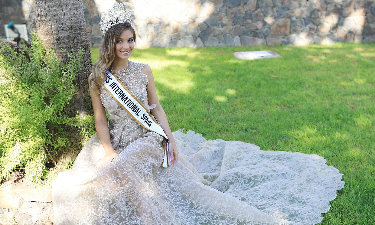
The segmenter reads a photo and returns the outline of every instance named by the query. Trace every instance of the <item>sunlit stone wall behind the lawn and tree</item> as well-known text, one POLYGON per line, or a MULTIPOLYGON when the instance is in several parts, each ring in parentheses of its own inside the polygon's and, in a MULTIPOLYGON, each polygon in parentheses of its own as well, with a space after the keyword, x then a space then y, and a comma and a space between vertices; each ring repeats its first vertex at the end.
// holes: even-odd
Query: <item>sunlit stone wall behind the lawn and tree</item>
MULTIPOLYGON (((33 0, 14 1, 17 7, 0 1, 2 25, 17 20, 35 30, 33 0), (12 10, 20 14, 21 8, 23 19, 17 19, 12 10)), ((132 14, 138 46, 375 42, 375 1, 370 0, 83 0, 92 45, 102 40, 100 13, 115 2, 123 2, 132 14)))

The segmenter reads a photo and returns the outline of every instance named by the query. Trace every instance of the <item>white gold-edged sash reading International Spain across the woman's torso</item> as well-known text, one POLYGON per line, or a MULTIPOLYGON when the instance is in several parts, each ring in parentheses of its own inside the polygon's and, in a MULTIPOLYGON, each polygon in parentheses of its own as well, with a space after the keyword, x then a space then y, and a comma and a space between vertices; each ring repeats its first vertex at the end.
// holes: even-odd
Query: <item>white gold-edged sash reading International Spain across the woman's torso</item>
POLYGON ((141 102, 121 83, 121 81, 108 69, 105 71, 107 77, 103 83, 108 93, 127 111, 141 126, 162 135, 166 138, 164 145, 164 159, 162 166, 168 167, 171 161, 169 155, 168 137, 160 124, 151 116, 141 102))

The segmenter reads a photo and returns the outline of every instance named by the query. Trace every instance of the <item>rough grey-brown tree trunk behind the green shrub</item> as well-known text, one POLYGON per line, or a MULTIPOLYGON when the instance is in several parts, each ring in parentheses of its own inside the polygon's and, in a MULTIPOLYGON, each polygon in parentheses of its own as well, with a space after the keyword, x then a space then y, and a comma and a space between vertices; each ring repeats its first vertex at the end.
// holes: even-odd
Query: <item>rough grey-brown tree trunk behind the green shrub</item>
MULTIPOLYGON (((83 48, 81 71, 75 80, 77 90, 64 113, 71 117, 74 117, 77 111, 80 116, 93 114, 87 81, 92 61, 82 0, 34 0, 34 15, 36 30, 43 45, 54 49, 63 63, 68 59, 68 55, 62 49, 76 53, 80 47, 83 48)), ((55 160, 66 162, 78 155, 82 148, 80 142, 84 137, 80 135, 80 129, 77 127, 63 128, 71 144, 65 150, 59 151, 55 160)))

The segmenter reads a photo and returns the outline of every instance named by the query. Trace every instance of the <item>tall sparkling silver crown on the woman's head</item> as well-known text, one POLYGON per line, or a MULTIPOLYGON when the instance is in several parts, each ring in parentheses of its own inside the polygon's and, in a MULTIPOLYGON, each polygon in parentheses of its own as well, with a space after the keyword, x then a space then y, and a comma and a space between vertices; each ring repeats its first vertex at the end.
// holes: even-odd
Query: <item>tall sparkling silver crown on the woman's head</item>
POLYGON ((103 12, 100 15, 100 31, 105 35, 105 32, 115 24, 128 22, 132 25, 130 16, 129 11, 125 9, 123 3, 115 3, 113 9, 109 9, 108 12, 103 12))

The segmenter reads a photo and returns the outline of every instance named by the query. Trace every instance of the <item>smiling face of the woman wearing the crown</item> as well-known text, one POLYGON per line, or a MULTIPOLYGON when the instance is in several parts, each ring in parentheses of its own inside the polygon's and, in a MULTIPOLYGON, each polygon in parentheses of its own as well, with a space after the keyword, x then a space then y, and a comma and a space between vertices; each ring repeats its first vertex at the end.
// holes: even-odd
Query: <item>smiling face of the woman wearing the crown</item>
POLYGON ((115 60, 124 60, 130 57, 134 48, 134 37, 130 30, 123 30, 115 45, 115 60))

